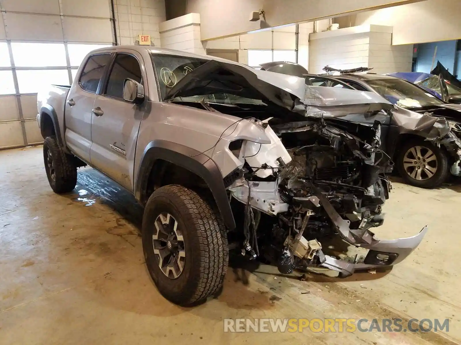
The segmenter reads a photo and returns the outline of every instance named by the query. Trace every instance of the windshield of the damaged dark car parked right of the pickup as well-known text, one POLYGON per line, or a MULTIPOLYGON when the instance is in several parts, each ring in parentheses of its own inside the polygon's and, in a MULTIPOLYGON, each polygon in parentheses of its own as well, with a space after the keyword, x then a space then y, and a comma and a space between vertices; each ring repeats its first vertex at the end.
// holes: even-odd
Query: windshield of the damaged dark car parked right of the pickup
POLYGON ((418 86, 402 79, 370 79, 367 83, 390 103, 402 108, 421 108, 428 105, 443 104, 440 99, 429 92, 425 92, 418 86))

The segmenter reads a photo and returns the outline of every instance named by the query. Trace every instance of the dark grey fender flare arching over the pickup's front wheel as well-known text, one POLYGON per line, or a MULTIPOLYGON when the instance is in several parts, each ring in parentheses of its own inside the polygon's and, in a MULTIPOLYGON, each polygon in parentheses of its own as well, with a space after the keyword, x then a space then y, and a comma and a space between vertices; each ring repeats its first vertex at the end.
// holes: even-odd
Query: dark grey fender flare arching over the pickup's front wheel
POLYGON ((136 178, 136 199, 142 201, 151 168, 158 159, 169 161, 203 178, 213 195, 224 224, 229 230, 235 229, 234 215, 219 167, 207 155, 181 144, 153 140, 146 146, 136 178))

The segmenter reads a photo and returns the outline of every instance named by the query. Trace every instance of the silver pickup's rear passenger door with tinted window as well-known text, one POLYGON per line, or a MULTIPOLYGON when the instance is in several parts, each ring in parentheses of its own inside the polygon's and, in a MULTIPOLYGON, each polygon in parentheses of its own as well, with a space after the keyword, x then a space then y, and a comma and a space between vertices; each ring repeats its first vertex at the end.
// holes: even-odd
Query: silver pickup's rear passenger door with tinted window
POLYGON ((93 104, 100 79, 110 59, 110 54, 89 57, 80 80, 73 83, 65 104, 66 144, 77 156, 87 162, 90 161, 93 104))

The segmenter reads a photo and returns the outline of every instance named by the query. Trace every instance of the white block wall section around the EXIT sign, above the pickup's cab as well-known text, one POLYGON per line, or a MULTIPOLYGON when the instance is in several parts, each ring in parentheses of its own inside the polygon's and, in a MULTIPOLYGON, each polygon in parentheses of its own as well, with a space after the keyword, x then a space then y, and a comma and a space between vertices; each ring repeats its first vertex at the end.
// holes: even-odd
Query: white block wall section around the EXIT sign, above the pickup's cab
POLYGON ((115 0, 118 44, 135 44, 139 35, 150 35, 160 46, 159 23, 165 21, 164 0, 115 0))

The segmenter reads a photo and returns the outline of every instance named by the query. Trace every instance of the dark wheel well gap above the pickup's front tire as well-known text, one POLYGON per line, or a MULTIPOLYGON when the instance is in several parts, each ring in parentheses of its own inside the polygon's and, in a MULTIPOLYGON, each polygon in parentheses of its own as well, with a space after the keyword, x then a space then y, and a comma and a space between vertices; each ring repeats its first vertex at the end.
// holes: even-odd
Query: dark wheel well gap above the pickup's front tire
POLYGON ((169 161, 157 159, 154 161, 147 184, 142 192, 142 203, 146 204, 154 190, 168 184, 179 184, 191 190, 208 189, 207 183, 199 175, 169 161))

